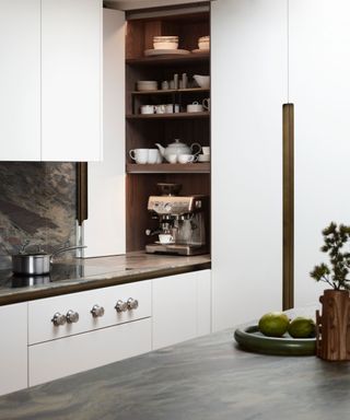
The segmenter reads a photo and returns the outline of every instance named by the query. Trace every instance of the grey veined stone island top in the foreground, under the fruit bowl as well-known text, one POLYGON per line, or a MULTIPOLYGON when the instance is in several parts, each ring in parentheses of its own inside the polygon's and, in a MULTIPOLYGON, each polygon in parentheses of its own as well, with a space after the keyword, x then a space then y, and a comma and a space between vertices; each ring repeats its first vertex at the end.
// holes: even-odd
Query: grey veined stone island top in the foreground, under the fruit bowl
POLYGON ((233 329, 0 398, 0 418, 329 420, 350 411, 350 363, 236 348, 233 329))

